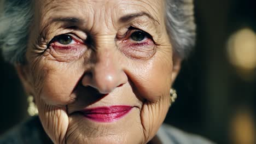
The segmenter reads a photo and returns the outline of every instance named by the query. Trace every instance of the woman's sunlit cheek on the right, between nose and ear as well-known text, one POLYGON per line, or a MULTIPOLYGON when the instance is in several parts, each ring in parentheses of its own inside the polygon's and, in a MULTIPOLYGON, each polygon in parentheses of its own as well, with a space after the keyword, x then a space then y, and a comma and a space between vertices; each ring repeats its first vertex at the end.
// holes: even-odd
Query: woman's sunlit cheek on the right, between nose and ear
POLYGON ((170 91, 172 83, 172 60, 170 58, 155 57, 147 63, 136 63, 132 70, 131 81, 133 88, 143 99, 156 102, 162 95, 170 91))

